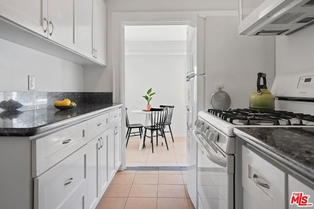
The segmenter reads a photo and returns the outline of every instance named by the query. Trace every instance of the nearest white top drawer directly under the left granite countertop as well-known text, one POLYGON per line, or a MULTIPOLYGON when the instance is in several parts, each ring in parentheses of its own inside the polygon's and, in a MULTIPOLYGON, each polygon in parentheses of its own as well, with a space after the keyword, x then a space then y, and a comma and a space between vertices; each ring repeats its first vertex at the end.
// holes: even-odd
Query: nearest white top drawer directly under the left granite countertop
POLYGON ((88 142, 87 122, 32 141, 32 176, 36 177, 88 142))

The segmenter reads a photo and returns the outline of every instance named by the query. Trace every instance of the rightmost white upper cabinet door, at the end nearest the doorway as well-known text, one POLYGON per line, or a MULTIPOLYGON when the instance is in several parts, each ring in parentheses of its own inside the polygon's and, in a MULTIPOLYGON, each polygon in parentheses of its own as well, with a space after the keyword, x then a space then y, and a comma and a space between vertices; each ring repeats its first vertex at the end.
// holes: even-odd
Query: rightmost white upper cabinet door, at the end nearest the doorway
POLYGON ((97 62, 106 65, 106 5, 93 0, 93 52, 97 62))

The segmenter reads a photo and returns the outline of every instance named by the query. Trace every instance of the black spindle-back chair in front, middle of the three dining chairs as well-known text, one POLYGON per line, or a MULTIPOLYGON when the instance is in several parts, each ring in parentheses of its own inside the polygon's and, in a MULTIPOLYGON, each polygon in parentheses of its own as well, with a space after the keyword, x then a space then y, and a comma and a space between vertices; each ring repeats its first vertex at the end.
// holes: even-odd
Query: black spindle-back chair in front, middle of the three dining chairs
MULTIPOLYGON (((160 131, 162 135, 164 136, 167 150, 168 149, 168 144, 167 144, 167 139, 164 134, 164 129, 165 129, 165 123, 166 119, 168 116, 168 108, 151 108, 150 110, 152 112, 151 114, 151 124, 149 126, 144 126, 144 144, 145 144, 145 138, 146 138, 146 131, 151 130, 151 143, 152 143, 152 152, 154 153, 154 142, 153 142, 153 136, 154 136, 154 131, 158 133, 160 131)), ((158 134, 156 134, 156 142, 158 141, 158 134)))

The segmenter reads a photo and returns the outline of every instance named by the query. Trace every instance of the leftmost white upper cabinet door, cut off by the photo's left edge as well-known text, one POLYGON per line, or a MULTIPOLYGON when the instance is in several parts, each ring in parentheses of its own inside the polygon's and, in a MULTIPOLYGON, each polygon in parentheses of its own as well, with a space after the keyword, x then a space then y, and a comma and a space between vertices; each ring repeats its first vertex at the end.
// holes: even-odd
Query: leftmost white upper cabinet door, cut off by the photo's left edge
POLYGON ((47 37, 47 0, 0 0, 0 17, 47 37))

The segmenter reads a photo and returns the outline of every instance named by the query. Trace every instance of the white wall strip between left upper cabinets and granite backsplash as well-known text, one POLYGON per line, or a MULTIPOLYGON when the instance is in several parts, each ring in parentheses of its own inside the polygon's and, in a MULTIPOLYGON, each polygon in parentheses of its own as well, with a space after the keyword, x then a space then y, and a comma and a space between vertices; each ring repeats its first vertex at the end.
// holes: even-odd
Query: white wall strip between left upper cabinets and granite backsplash
POLYGON ((82 92, 83 67, 0 39, 0 91, 27 92, 34 75, 36 92, 82 92))

